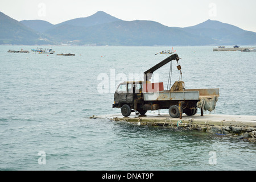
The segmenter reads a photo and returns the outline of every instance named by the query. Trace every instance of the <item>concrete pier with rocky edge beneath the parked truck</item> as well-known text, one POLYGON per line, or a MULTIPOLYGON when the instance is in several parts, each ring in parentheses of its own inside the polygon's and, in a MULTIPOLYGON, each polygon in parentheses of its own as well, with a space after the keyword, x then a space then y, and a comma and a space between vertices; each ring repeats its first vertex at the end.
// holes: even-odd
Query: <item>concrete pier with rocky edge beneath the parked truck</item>
POLYGON ((163 126, 175 129, 199 130, 221 135, 238 135, 240 138, 256 142, 256 115, 222 115, 222 114, 183 114, 182 119, 172 118, 169 114, 148 113, 135 117, 123 117, 122 114, 94 116, 112 121, 129 122, 135 125, 163 126))

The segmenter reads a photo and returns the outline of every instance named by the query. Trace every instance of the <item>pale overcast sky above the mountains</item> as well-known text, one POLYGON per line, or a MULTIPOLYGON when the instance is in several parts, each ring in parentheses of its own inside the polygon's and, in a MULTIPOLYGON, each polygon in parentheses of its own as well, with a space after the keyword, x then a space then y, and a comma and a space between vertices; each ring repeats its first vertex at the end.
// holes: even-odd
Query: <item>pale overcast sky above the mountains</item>
POLYGON ((188 27, 208 19, 256 32, 255 0, 3 0, 0 11, 13 19, 57 24, 104 11, 122 20, 152 20, 188 27))

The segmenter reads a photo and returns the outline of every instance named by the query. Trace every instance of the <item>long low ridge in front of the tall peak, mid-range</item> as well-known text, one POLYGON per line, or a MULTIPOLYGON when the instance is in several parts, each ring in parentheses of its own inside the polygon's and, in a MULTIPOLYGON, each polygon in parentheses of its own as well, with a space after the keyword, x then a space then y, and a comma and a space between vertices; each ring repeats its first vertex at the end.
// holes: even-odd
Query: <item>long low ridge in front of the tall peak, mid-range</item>
POLYGON ((48 30, 46 34, 59 40, 80 40, 81 44, 100 45, 193 46, 203 45, 205 41, 205 39, 198 38, 198 36, 188 34, 181 28, 167 27, 147 20, 119 20, 90 27, 63 25, 48 30))

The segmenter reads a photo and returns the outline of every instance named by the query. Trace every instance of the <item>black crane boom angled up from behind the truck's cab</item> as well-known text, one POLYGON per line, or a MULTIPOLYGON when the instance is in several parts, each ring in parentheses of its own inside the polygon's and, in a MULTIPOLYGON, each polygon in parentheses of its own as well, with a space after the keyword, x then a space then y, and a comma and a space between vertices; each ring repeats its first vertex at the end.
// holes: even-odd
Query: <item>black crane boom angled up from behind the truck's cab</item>
POLYGON ((146 72, 144 72, 144 81, 147 82, 148 80, 150 80, 152 77, 152 74, 154 73, 154 71, 156 71, 156 69, 163 67, 163 65, 166 65, 167 63, 169 63, 172 60, 179 61, 180 58, 175 53, 174 55, 171 55, 171 56, 167 57, 166 59, 164 59, 163 61, 161 61, 160 63, 154 65, 154 67, 152 67, 152 68, 148 69, 146 72))

